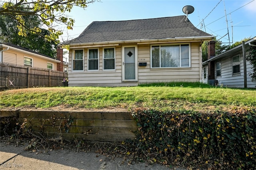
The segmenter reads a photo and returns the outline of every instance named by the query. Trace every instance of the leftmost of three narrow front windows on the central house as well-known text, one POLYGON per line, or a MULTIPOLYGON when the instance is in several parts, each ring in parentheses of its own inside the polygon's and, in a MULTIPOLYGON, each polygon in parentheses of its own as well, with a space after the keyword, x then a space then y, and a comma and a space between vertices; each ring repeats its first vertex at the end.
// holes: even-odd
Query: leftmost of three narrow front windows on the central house
POLYGON ((76 49, 73 53, 73 70, 84 70, 84 50, 76 49))

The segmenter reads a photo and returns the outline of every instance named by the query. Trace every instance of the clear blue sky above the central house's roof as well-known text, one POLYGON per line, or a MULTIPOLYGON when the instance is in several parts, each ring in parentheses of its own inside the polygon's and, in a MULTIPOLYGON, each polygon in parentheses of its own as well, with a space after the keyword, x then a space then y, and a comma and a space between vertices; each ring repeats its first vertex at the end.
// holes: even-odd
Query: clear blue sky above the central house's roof
POLYGON ((70 40, 78 37, 93 21, 185 15, 182 8, 186 5, 194 7, 194 12, 188 15, 190 22, 198 29, 217 36, 217 40, 221 38, 226 45, 229 40, 232 44, 232 38, 234 43, 256 36, 256 0, 101 0, 88 4, 86 10, 73 8, 68 15, 75 19, 75 24, 73 30, 65 31, 63 38, 70 40), (226 35, 228 31, 230 38, 226 35))

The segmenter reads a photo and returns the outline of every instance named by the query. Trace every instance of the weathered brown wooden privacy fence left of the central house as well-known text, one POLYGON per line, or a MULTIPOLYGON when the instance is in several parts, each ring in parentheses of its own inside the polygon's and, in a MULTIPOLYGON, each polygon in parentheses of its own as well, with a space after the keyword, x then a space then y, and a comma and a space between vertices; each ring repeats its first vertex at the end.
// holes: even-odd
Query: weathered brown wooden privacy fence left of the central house
POLYGON ((10 63, 0 63, 0 91, 30 87, 57 87, 68 73, 10 63))

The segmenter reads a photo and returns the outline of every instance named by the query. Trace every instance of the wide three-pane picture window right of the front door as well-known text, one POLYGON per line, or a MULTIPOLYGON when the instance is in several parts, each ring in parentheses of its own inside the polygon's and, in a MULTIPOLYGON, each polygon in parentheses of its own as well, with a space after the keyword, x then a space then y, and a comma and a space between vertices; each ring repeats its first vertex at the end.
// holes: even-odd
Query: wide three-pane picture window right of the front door
POLYGON ((190 44, 152 45, 151 67, 190 67, 190 44))

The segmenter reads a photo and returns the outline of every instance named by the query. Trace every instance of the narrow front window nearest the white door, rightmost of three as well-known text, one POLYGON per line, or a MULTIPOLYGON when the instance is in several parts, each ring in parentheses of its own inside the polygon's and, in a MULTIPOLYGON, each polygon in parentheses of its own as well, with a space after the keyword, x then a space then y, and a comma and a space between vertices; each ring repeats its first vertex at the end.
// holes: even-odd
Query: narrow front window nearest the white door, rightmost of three
POLYGON ((103 48, 103 69, 115 69, 115 48, 103 48))

